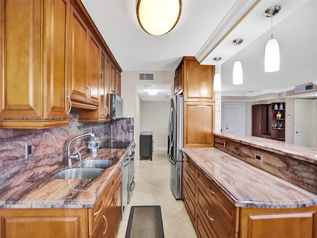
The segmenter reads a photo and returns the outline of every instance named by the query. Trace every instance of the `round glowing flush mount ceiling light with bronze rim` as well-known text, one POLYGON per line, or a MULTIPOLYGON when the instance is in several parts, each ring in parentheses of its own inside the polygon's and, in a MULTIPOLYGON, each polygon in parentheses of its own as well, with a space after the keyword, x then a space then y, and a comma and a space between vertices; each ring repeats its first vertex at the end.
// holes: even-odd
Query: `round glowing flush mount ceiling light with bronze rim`
POLYGON ((138 0, 137 17, 144 31, 161 36, 176 26, 182 11, 181 0, 138 0))

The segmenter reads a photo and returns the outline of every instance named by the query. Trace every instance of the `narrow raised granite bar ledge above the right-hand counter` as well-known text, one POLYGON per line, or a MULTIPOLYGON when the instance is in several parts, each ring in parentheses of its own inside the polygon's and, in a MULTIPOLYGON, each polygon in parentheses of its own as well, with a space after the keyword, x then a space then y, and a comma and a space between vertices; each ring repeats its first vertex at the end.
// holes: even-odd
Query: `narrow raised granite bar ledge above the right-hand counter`
POLYGON ((214 136, 233 140, 235 142, 239 142, 245 145, 250 145, 259 149, 264 149, 276 154, 289 156, 294 159, 306 161, 317 165, 316 148, 304 147, 282 141, 248 135, 214 133, 214 136))

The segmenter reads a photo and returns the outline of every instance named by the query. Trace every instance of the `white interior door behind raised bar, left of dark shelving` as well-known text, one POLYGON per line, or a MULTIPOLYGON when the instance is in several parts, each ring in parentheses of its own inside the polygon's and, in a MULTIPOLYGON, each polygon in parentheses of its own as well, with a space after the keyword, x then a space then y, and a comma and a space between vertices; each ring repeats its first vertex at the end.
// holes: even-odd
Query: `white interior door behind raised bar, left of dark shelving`
POLYGON ((245 134, 245 103, 224 103, 224 132, 245 134))

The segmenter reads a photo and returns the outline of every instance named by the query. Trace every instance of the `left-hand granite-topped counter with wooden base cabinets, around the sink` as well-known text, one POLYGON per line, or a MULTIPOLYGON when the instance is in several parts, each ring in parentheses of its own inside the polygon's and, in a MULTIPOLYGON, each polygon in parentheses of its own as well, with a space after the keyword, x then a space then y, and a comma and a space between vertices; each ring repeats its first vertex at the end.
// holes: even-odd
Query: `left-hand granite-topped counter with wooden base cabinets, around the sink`
POLYGON ((65 167, 1 193, 0 237, 116 237, 122 213, 121 162, 127 153, 100 149, 97 156, 82 155, 83 161, 113 160, 95 179, 52 179, 65 167))

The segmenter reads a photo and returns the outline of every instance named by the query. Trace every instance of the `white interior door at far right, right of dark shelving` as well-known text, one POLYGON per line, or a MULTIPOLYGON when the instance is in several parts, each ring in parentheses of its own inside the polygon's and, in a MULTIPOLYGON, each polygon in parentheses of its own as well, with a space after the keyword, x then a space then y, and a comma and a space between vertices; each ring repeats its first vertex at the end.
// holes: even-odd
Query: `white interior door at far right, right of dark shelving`
POLYGON ((312 140, 312 99, 294 100, 294 144, 315 147, 312 140))

